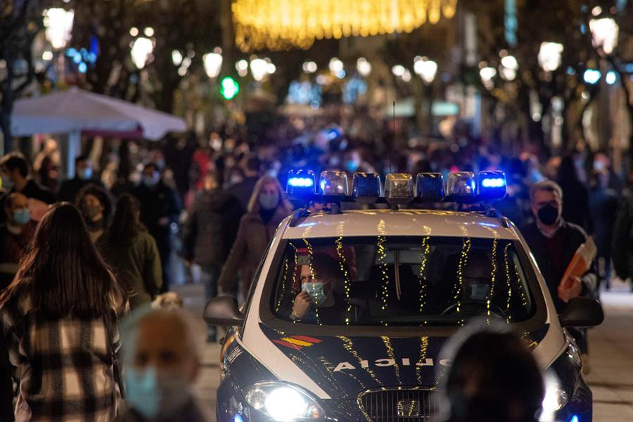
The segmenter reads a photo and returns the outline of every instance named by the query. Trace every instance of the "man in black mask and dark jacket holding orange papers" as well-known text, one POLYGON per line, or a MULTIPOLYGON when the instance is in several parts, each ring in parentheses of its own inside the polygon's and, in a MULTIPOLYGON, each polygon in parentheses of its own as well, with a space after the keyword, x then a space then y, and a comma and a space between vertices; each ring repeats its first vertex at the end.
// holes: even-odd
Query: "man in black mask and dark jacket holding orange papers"
MULTIPOLYGON (((595 295, 596 274, 593 269, 580 278, 573 277, 569 284, 561 283, 575 252, 587 241, 587 234, 561 216, 563 191, 556 182, 539 181, 530 190, 530 200, 535 222, 523 226, 520 231, 543 274, 556 310, 560 313, 570 299, 580 295, 595 295)), ((586 356, 586 332, 572 328, 569 331, 576 339, 581 353, 586 356)), ((587 370, 589 365, 584 367, 587 370)))

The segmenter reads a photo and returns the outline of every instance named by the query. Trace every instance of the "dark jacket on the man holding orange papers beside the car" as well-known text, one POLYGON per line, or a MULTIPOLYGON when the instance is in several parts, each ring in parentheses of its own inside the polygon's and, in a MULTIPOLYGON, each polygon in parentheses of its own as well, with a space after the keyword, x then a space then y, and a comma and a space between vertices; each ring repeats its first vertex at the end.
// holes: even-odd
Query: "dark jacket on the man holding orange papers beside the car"
MULTIPOLYGON (((535 222, 530 223, 523 226, 520 231, 521 234, 523 234, 525 241, 528 242, 530 251, 532 251, 532 255, 534 255, 539 269, 543 274, 543 278, 545 279, 551 298, 554 300, 554 305, 556 305, 556 309, 560 311, 563 307, 565 307, 565 302, 558 298, 558 284, 561 283, 561 277, 563 274, 556 274, 556 271, 551 263, 551 258, 546 253, 544 236, 539 231, 537 224, 535 222)), ((564 239, 563 243, 565 248, 563 250, 563 261, 567 262, 567 264, 565 264, 565 267, 567 267, 580 245, 587 241, 587 234, 585 234, 584 230, 579 226, 565 221, 563 221, 563 224, 561 228, 558 229, 558 232, 562 234, 564 239)), ((582 277, 582 283, 583 293, 592 294, 596 286, 595 274, 590 271, 582 277)))

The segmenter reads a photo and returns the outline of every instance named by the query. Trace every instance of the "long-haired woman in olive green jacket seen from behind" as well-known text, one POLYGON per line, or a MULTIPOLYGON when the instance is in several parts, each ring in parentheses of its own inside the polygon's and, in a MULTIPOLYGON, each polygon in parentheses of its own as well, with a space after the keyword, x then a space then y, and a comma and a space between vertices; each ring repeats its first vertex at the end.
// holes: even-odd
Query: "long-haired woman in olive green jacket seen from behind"
POLYGON ((122 195, 112 224, 97 242, 103 258, 130 293, 132 309, 151 302, 162 286, 158 247, 139 215, 139 200, 127 193, 122 195))

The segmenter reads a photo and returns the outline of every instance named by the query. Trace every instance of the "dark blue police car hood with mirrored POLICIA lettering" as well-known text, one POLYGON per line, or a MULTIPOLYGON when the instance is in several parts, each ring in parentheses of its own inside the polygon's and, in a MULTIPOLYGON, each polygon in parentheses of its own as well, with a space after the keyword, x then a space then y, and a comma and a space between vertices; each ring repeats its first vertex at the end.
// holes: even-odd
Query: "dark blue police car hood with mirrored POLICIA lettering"
MULTIPOLYGON (((546 324, 538 331, 525 333, 524 340, 530 347, 536 347, 548 328, 546 324)), ((390 337, 300 335, 283 333, 261 323, 260 329, 290 360, 273 371, 276 376, 290 382, 309 379, 333 399, 355 400, 359 392, 379 387, 433 388, 450 363, 440 357, 440 350, 451 330, 446 335, 390 337), (293 376, 296 371, 302 372, 295 373, 300 377, 293 376)))

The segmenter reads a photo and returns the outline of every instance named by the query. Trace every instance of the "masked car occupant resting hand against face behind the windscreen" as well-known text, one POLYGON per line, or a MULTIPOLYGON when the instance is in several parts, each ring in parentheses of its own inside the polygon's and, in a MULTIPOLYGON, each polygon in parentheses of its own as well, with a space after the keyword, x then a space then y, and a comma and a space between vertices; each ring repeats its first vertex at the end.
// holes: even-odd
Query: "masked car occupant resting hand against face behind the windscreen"
POLYGON ((343 279, 340 264, 325 254, 312 255, 301 266, 301 291, 295 297, 290 319, 309 324, 341 324, 345 321, 345 299, 335 289, 343 279))

